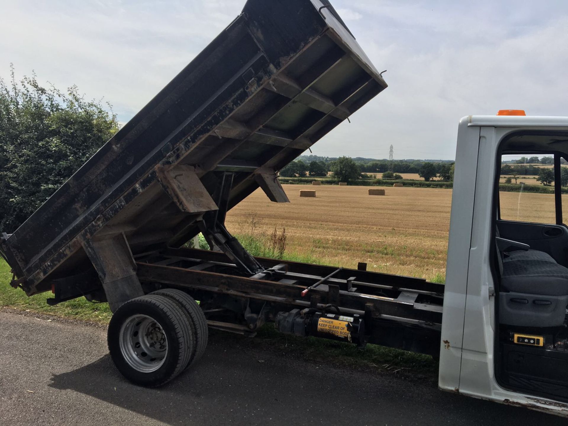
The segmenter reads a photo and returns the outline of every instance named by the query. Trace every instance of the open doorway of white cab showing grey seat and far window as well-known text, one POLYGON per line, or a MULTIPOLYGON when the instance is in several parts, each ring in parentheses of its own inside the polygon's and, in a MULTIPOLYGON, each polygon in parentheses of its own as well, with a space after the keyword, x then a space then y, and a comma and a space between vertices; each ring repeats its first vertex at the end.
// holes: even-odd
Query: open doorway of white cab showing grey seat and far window
POLYGON ((568 402, 568 164, 520 146, 503 154, 495 186, 495 373, 506 389, 568 402))

